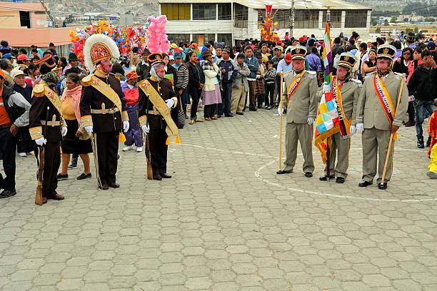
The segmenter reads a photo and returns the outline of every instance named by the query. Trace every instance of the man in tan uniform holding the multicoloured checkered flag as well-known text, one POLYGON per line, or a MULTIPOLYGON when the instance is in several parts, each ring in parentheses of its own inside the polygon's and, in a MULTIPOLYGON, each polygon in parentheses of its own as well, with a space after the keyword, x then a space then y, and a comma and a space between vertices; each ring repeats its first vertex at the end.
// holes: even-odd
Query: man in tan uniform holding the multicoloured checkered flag
POLYGON ((331 85, 323 86, 324 92, 333 92, 336 99, 338 116, 340 116, 340 132, 331 136, 331 155, 329 158, 329 177, 327 166, 325 175, 319 180, 326 181, 336 178, 336 183, 344 183, 348 174, 349 148, 351 146, 351 136, 355 134, 356 106, 361 91, 361 81, 352 79, 352 68, 357 63, 358 58, 352 53, 341 53, 338 61, 337 76, 333 77, 331 85), (336 155, 337 165, 336 163, 336 155), (335 166, 335 171, 334 171, 335 166))

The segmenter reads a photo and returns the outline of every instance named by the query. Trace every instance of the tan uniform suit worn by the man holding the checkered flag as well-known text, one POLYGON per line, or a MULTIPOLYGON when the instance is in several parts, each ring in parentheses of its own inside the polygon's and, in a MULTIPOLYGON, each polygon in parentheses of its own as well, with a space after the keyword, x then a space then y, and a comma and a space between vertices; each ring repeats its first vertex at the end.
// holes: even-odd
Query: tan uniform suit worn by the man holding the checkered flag
MULTIPOLYGON (((358 99, 361 92, 361 81, 351 80, 343 83, 341 86, 341 104, 343 106, 344 114, 348 121, 351 121, 351 126, 355 126, 356 119, 356 106, 358 105, 358 99)), ((341 133, 335 133, 332 138, 331 157, 329 158, 329 175, 335 175, 337 177, 345 178, 348 176, 346 173, 349 166, 349 148, 351 146, 351 137, 344 138, 341 133)), ((326 174, 326 168, 325 168, 326 174)))

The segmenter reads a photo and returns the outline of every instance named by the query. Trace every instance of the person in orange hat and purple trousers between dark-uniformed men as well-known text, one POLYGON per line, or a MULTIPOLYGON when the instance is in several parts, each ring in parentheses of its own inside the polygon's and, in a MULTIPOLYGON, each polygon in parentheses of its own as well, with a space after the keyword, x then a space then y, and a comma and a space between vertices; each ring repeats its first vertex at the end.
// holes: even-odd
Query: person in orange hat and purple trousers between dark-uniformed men
POLYGON ((138 125, 138 75, 136 71, 126 73, 126 81, 121 84, 121 90, 124 93, 126 108, 129 115, 129 130, 126 131, 126 141, 124 142, 123 151, 131 150, 135 144, 136 152, 143 151, 143 136, 139 131, 138 125))

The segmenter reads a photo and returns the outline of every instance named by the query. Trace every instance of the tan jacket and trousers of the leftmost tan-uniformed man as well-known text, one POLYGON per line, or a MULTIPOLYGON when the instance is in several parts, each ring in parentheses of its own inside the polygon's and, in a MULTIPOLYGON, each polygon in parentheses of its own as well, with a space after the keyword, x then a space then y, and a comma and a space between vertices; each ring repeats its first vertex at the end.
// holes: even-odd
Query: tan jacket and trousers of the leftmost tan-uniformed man
POLYGON ((317 78, 315 72, 307 71, 287 106, 288 86, 290 86, 296 75, 298 75, 296 72, 291 71, 284 76, 285 88, 283 89, 282 102, 283 107, 287 108, 287 123, 286 161, 283 170, 287 172, 293 171, 296 164, 297 143, 299 141, 304 159, 303 172, 313 173, 313 126, 308 125, 308 118, 316 119, 317 116, 317 78))

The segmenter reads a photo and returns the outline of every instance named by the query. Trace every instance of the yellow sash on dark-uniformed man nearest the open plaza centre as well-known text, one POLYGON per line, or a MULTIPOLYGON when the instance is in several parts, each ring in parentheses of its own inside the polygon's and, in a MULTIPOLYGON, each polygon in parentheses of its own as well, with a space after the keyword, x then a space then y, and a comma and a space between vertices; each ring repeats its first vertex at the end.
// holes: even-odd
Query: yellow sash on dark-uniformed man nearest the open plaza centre
MULTIPOLYGON (((179 136, 179 129, 174 123, 173 118, 171 118, 171 113, 169 107, 167 107, 166 102, 159 95, 159 93, 155 90, 154 86, 149 83, 148 80, 143 80, 139 83, 139 88, 149 96, 149 100, 154 104, 156 110, 159 111, 164 120, 167 123, 166 133, 169 138, 167 138, 166 145, 168 146, 170 143, 170 137, 176 136, 175 143, 181 143, 181 137, 179 136)), ((149 108, 148 108, 149 109, 149 108)))

